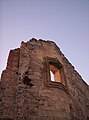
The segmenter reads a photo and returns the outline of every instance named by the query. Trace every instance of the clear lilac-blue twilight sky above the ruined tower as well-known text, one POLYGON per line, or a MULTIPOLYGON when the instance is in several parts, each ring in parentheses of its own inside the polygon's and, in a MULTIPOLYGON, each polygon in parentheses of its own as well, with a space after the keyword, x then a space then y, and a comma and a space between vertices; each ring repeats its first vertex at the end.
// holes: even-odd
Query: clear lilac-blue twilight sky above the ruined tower
POLYGON ((89 0, 0 0, 0 74, 33 37, 54 41, 89 84, 89 0))

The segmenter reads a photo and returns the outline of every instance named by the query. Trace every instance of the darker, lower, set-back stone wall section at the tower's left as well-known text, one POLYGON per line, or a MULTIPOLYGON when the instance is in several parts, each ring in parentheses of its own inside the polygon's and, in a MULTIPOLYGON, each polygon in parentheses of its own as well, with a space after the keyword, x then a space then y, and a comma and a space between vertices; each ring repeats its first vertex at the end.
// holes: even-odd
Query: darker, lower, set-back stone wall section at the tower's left
POLYGON ((1 76, 1 106, 0 106, 0 119, 14 117, 15 102, 16 102, 16 86, 19 68, 19 49, 11 50, 6 70, 3 71, 1 76))

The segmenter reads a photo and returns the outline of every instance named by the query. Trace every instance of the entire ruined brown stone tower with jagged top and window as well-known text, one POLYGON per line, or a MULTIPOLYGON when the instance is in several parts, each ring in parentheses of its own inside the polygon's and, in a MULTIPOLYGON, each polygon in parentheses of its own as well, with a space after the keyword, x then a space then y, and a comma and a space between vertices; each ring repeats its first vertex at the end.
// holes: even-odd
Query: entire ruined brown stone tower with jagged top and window
POLYGON ((89 120, 89 86, 54 42, 32 38, 9 53, 0 120, 89 120))

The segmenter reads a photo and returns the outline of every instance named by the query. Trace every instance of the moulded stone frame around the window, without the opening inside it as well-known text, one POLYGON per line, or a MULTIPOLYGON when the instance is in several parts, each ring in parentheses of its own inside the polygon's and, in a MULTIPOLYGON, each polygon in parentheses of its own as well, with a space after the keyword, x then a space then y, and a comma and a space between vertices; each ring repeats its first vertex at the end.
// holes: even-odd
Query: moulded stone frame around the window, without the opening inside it
POLYGON ((67 83, 66 83, 66 77, 64 73, 64 68, 63 65, 59 62, 57 58, 51 58, 47 57, 45 59, 45 67, 44 67, 44 73, 45 73, 45 86, 47 87, 53 87, 53 88, 59 88, 68 93, 67 89, 67 83), (52 81, 51 76, 50 76, 50 63, 53 63, 54 66, 56 66, 58 69, 60 69, 60 74, 61 74, 61 81, 62 82, 57 82, 57 81, 52 81), (63 84, 63 81, 65 84, 63 84))

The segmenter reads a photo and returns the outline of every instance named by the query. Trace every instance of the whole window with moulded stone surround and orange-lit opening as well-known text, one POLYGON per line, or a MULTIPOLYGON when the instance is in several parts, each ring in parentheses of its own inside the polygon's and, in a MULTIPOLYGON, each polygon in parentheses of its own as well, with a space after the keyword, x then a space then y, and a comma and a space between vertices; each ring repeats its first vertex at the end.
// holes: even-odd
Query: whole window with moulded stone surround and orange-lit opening
POLYGON ((45 84, 67 91, 64 69, 56 58, 45 58, 45 84))

